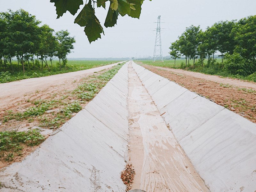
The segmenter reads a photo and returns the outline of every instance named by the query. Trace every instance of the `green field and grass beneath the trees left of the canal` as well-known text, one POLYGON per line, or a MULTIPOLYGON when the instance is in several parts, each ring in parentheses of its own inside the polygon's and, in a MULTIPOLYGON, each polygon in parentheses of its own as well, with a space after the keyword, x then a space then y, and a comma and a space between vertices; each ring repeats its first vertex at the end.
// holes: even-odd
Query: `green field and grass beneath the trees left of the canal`
MULTIPOLYGON (((39 60, 40 61, 40 60, 39 60)), ((23 73, 21 64, 18 66, 18 61, 12 61, 13 71, 10 65, 7 66, 6 70, 4 66, 0 67, 0 83, 7 83, 12 81, 17 81, 21 79, 28 79, 33 77, 42 77, 42 76, 50 76, 61 73, 68 73, 72 71, 79 71, 84 69, 90 69, 94 67, 100 67, 104 65, 109 65, 112 63, 116 63, 119 61, 111 61, 111 60, 68 60, 66 66, 62 66, 62 70, 60 70, 58 60, 53 60, 52 64, 50 61, 47 61, 49 68, 48 70, 45 63, 35 63, 35 67, 33 63, 30 61, 30 66, 28 63, 25 63, 25 73, 23 73), (35 68, 35 69, 34 69, 35 68)))

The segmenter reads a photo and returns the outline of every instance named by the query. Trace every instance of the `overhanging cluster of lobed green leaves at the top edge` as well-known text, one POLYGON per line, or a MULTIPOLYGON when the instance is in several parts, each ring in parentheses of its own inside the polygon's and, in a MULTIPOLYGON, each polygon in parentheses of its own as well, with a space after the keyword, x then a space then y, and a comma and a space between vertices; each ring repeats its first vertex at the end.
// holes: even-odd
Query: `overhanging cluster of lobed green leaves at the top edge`
MULTIPOLYGON (((89 0, 84 8, 78 14, 75 19, 75 23, 84 27, 85 35, 88 37, 89 42, 101 38, 101 33, 104 34, 103 28, 100 25, 100 21, 95 16, 94 7, 103 7, 106 9, 106 2, 110 1, 107 17, 104 23, 105 27, 113 27, 116 24, 118 15, 129 15, 133 18, 140 18, 141 5, 144 0, 89 0), (93 4, 93 6, 92 6, 93 4)), ((151 0, 150 0, 151 1, 151 0)), ((59 17, 63 13, 69 11, 72 15, 75 15, 79 6, 83 4, 83 0, 51 0, 56 7, 56 12, 59 17)))

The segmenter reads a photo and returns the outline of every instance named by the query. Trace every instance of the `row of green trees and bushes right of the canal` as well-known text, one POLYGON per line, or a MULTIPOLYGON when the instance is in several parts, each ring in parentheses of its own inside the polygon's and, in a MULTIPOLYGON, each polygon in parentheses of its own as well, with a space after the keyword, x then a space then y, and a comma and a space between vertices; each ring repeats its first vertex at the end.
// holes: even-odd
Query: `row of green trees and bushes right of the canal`
POLYGON ((194 68, 195 58, 200 58, 202 67, 205 58, 208 58, 208 65, 213 65, 214 53, 220 52, 222 67, 233 74, 252 74, 256 70, 256 16, 219 21, 205 31, 191 25, 171 44, 170 50, 174 60, 185 56, 186 66, 187 59, 193 59, 194 68), (226 59, 224 65, 223 57, 226 59))

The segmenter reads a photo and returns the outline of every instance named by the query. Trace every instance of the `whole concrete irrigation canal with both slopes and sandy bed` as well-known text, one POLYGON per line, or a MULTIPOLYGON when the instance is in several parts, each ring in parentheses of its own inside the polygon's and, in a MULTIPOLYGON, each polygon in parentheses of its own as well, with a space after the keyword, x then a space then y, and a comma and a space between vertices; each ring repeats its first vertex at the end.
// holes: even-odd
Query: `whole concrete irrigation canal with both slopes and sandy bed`
POLYGON ((128 61, 22 162, 0 191, 256 191, 256 124, 128 61), (135 191, 135 190, 134 190, 135 191))

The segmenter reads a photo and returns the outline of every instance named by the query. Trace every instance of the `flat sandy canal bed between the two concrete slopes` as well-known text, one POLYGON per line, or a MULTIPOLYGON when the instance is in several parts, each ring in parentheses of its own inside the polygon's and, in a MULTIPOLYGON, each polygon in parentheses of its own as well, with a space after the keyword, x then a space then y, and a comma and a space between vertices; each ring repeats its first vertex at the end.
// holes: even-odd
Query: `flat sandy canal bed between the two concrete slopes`
POLYGON ((128 73, 128 157, 135 169, 128 187, 147 192, 208 191, 131 64, 128 73))

